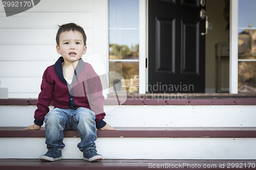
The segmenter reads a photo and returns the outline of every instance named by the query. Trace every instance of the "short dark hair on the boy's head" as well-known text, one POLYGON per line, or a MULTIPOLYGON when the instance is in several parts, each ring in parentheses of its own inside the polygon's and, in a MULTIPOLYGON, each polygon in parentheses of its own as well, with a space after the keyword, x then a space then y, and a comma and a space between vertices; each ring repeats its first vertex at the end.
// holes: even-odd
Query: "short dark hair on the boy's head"
POLYGON ((56 43, 57 43, 57 45, 59 45, 59 35, 60 35, 60 33, 63 33, 63 32, 66 32, 66 31, 77 31, 77 32, 81 33, 82 36, 83 36, 84 46, 86 45, 86 33, 84 33, 82 27, 76 25, 73 22, 66 23, 66 24, 64 24, 62 26, 59 26, 59 30, 58 30, 57 35, 56 35, 56 43))

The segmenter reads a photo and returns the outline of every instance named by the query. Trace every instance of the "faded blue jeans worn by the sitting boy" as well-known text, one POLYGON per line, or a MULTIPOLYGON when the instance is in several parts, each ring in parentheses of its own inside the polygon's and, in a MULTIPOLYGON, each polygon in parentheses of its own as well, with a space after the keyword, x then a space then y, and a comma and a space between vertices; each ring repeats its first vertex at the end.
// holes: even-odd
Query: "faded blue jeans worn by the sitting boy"
POLYGON ((47 148, 61 150, 65 147, 63 141, 63 130, 77 130, 81 141, 77 148, 95 145, 97 139, 95 113, 87 108, 59 109, 54 108, 45 116, 46 144, 47 148))

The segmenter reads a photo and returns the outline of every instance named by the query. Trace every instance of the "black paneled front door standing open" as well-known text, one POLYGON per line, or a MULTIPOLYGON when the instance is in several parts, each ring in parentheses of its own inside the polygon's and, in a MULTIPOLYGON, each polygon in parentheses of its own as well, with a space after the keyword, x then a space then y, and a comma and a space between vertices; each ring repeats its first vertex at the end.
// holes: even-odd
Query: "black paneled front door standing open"
POLYGON ((205 92, 200 0, 148 1, 148 92, 205 92))

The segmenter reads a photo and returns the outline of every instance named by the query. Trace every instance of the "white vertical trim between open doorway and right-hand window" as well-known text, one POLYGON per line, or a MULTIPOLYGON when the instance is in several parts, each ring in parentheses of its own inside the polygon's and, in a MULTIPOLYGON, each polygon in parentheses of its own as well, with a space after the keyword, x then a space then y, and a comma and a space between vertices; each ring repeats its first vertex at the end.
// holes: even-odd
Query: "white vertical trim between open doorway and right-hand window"
POLYGON ((238 0, 230 1, 229 93, 238 93, 238 0))

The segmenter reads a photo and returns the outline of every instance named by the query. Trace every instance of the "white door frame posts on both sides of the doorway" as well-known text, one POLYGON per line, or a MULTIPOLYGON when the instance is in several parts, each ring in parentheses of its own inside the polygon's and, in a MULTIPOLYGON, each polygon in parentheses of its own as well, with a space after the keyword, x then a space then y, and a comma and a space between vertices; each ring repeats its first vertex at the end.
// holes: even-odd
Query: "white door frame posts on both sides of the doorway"
MULTIPOLYGON (((148 0, 139 0, 139 93, 148 91, 148 0)), ((230 1, 229 93, 238 93, 238 0, 230 1)))

